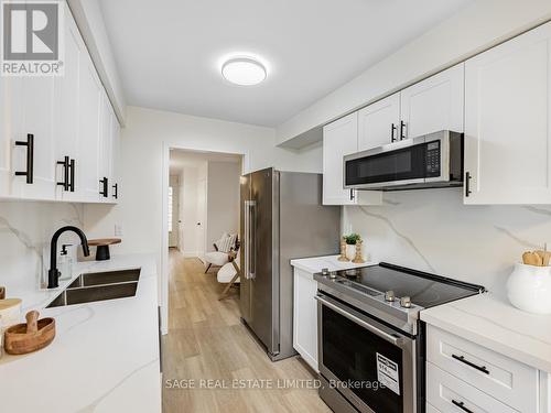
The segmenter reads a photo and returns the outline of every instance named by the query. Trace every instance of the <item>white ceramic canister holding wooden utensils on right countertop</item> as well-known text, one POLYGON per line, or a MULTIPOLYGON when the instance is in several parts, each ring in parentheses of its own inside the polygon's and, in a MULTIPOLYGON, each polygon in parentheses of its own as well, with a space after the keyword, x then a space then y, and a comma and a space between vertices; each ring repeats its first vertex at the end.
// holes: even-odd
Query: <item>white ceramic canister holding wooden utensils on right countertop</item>
POLYGON ((507 296, 525 312, 551 314, 551 267, 515 264, 507 281, 507 296))

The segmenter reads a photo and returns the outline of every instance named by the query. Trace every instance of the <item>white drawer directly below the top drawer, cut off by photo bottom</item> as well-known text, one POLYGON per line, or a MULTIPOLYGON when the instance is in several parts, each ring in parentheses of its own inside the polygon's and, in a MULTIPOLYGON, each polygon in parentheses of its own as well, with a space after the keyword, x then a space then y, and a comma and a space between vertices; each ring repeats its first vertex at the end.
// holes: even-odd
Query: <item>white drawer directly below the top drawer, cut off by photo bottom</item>
MULTIPOLYGON (((426 401, 436 412, 519 413, 430 361, 426 362, 426 401)), ((536 410, 526 411, 529 412, 536 410)))

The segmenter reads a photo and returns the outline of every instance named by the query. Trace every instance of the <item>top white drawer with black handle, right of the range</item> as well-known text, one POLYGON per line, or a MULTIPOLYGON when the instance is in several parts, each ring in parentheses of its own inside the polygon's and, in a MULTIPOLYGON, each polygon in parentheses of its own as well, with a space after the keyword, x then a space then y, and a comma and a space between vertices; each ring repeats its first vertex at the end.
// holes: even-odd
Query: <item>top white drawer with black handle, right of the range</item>
POLYGON ((529 366, 432 326, 426 359, 515 409, 538 411, 538 371, 529 366))

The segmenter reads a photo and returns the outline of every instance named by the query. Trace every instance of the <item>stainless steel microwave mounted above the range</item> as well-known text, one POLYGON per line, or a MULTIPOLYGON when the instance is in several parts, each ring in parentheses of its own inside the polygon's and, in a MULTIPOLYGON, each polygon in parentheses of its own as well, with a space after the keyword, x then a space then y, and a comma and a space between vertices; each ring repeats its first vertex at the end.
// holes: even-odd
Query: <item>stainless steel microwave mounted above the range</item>
POLYGON ((443 130, 344 156, 347 189, 463 186, 463 133, 443 130))

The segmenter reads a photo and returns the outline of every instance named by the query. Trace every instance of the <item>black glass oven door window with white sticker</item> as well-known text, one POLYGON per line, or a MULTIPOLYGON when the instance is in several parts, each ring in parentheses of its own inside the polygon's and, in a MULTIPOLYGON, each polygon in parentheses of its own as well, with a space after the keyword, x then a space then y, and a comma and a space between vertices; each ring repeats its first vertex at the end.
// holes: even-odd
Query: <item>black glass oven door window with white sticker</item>
POLYGON ((375 412, 402 413, 402 349, 326 306, 322 306, 322 330, 323 366, 337 377, 339 385, 349 384, 348 389, 375 412), (398 368, 399 389, 381 387, 378 355, 379 361, 398 368))

